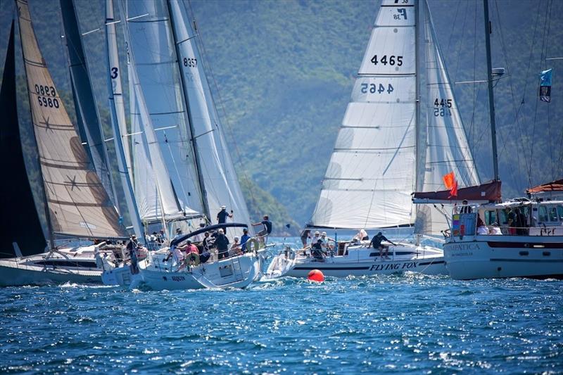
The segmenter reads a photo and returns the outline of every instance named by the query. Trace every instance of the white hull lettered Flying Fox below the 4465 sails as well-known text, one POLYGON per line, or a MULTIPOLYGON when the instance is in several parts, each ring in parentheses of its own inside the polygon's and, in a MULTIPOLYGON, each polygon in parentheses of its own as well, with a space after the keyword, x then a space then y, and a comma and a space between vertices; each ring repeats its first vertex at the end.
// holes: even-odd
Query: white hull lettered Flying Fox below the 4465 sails
POLYGON ((379 258, 379 250, 366 246, 350 246, 347 255, 335 255, 319 262, 310 256, 286 256, 281 252, 268 267, 269 277, 307 277, 312 269, 319 269, 327 277, 365 276, 419 272, 448 274, 442 251, 427 246, 400 244, 389 247, 389 258, 379 258))

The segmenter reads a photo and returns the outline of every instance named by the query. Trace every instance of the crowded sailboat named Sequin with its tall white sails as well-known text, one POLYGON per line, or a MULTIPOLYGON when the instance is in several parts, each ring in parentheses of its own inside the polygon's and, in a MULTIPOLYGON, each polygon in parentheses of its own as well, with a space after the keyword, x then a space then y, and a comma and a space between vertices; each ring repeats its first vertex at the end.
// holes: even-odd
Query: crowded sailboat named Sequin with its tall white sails
MULTIPOLYGON (((219 229, 209 221, 211 212, 215 212, 211 210, 218 212, 221 204, 229 203, 243 220, 222 224, 220 227, 227 231, 248 227, 248 210, 205 80, 195 44, 197 34, 189 26, 184 7, 177 1, 135 1, 127 5, 127 11, 145 15, 123 23, 134 134, 129 165, 139 214, 144 222, 186 220, 191 230, 170 241, 170 248, 150 253, 139 262, 139 272, 104 261, 103 281, 152 289, 246 287, 260 272, 258 253, 212 259, 201 265, 195 261, 187 267, 169 256, 175 246, 202 230, 219 229), (190 220, 199 217, 205 218, 207 225, 194 231, 190 220)), ((106 25, 110 27, 111 1, 106 6, 106 25)), ((122 3, 120 11, 127 20, 122 3)), ((106 34, 115 38, 115 31, 106 34)), ((112 46, 108 56, 115 56, 115 42, 108 40, 108 46, 112 46)), ((110 61, 114 71, 119 70, 116 64, 114 57, 110 61)), ((125 127, 114 129, 123 132, 125 127)))

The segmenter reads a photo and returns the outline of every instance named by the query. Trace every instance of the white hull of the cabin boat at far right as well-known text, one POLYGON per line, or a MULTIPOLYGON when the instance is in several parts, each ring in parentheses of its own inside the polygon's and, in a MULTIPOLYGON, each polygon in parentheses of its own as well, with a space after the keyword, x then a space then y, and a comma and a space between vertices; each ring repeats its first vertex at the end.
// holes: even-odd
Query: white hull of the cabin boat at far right
POLYGON ((563 278, 563 236, 464 236, 444 244, 450 276, 457 280, 563 278))

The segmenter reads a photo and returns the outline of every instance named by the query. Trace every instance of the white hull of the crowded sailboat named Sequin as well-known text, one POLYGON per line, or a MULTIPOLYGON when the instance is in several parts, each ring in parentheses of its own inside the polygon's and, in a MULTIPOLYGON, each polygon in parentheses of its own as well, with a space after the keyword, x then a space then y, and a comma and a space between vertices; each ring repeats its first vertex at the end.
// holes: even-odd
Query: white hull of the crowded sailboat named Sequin
POLYGON ((103 283, 156 291, 246 288, 260 275, 260 261, 253 254, 239 255, 181 270, 178 270, 177 265, 163 262, 161 259, 163 255, 165 253, 155 253, 147 260, 139 262, 137 274, 131 273, 129 265, 104 271, 103 283))

